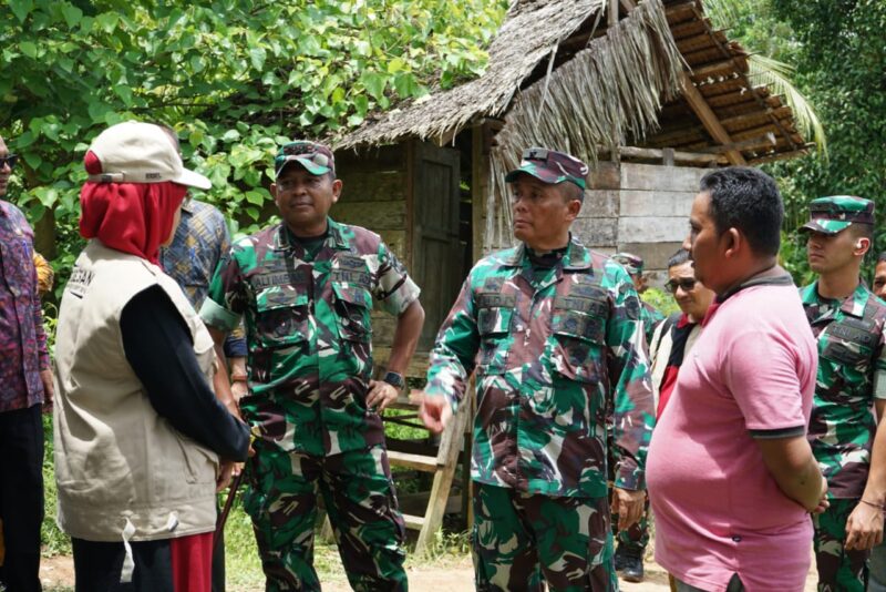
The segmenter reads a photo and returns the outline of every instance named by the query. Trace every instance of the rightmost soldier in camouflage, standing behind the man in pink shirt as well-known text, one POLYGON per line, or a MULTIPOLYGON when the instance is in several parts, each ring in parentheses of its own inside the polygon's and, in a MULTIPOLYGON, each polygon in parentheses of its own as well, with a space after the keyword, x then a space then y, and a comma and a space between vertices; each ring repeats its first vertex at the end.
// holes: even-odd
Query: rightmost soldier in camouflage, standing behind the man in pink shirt
POLYGON ((882 414, 886 407, 886 303, 858 275, 873 227, 873 202, 836 196, 814 200, 801 228, 808 234, 810 266, 818 274, 801 288, 801 298, 818 340, 808 439, 831 503, 813 517, 824 591, 864 590, 868 550, 883 537, 886 450, 872 459, 877 433, 872 408, 882 414))

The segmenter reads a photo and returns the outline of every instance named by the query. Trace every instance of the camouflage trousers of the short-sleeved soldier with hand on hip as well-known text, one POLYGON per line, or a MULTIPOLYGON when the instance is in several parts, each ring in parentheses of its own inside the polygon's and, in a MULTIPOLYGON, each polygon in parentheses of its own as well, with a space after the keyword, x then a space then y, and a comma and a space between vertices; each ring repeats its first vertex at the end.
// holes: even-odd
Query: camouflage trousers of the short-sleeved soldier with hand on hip
POLYGON ((313 532, 322 496, 351 588, 405 591, 405 525, 383 446, 331 457, 257 441, 244 508, 253 519, 266 591, 313 591, 313 532))

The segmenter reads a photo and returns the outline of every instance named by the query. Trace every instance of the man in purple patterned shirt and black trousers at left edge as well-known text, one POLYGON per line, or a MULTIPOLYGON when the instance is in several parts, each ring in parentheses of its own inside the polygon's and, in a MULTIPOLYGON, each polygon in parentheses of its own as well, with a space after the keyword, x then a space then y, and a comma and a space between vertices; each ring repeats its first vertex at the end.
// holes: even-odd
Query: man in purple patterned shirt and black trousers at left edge
MULTIPOLYGON (((18 157, 0 137, 0 197, 18 157)), ((43 422, 52 372, 33 263, 34 233, 21 211, 0 200, 0 520, 2 581, 16 592, 41 590, 43 422)))

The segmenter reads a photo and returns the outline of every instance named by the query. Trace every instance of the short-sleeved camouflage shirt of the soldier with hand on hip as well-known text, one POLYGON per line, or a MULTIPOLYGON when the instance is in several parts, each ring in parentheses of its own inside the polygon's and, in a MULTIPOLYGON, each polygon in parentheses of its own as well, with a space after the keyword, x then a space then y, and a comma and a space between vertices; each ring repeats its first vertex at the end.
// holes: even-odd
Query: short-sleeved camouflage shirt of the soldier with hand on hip
POLYGON ((379 236, 329 220, 311 257, 277 224, 237 241, 200 309, 207 325, 243 317, 249 354, 244 419, 282 450, 336 455, 383 442, 367 408, 373 302, 399 315, 419 288, 379 236))

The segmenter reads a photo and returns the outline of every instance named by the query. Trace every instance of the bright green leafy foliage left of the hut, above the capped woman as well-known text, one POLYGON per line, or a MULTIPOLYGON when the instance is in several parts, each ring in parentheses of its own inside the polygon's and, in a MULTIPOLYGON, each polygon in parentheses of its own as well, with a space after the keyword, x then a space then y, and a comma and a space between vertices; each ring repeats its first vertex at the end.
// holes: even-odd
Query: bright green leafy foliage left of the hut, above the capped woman
POLYGON ((205 198, 250 229, 280 143, 341 133, 477 75, 505 9, 505 0, 9 0, 0 134, 23 162, 10 197, 32 222, 52 212, 63 269, 79 251, 89 142, 123 120, 162 121, 213 180, 205 198))

